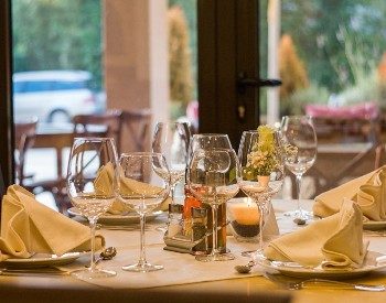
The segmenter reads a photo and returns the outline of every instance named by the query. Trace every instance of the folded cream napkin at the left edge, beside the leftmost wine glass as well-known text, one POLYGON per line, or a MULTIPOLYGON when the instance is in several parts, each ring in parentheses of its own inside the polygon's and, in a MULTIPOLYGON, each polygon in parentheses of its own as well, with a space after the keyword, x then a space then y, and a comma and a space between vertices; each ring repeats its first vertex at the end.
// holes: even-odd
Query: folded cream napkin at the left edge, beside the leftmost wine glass
MULTIPOLYGON (((96 237, 96 249, 105 245, 96 237)), ((87 226, 35 201, 33 194, 19 185, 8 187, 2 198, 0 260, 29 258, 34 252, 63 255, 90 249, 87 226)))

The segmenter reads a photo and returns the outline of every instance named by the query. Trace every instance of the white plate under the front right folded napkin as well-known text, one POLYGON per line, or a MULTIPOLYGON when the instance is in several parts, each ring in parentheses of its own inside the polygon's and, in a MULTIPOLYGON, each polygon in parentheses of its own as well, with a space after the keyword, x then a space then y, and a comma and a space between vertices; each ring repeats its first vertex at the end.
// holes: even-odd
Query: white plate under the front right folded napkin
POLYGON ((267 270, 276 270, 281 274, 296 277, 296 278, 321 278, 321 279, 349 279, 356 278, 369 273, 371 271, 386 268, 385 255, 367 251, 362 268, 358 269, 329 269, 324 270, 321 267, 318 268, 304 268, 294 262, 279 262, 270 260, 257 260, 258 264, 267 270), (377 258, 379 262, 377 261, 377 258), (382 260, 382 262, 380 262, 382 260))

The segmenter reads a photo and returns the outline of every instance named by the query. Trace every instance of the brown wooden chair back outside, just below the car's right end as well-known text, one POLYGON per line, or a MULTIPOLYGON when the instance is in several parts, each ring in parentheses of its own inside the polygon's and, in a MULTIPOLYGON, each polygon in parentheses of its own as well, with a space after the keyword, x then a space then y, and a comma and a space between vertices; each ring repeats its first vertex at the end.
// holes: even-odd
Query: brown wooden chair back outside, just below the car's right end
POLYGON ((82 134, 82 137, 95 136, 93 133, 93 127, 104 126, 106 127, 105 136, 114 138, 119 152, 121 140, 121 116, 122 111, 119 109, 110 109, 100 115, 74 116, 74 134, 82 134))

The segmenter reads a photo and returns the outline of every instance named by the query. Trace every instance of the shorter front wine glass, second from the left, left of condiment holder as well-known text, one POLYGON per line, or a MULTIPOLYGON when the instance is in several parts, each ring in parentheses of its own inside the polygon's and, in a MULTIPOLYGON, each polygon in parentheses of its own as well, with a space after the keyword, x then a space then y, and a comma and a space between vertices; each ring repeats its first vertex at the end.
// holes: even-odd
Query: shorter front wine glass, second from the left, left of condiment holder
POLYGON ((120 156, 119 166, 120 184, 125 183, 125 186, 131 187, 131 191, 120 191, 119 198, 139 214, 141 227, 139 260, 135 264, 124 266, 122 269, 136 272, 161 270, 162 266, 151 264, 146 260, 144 224, 146 215, 160 206, 169 196, 170 172, 167 161, 161 153, 124 153, 120 156))

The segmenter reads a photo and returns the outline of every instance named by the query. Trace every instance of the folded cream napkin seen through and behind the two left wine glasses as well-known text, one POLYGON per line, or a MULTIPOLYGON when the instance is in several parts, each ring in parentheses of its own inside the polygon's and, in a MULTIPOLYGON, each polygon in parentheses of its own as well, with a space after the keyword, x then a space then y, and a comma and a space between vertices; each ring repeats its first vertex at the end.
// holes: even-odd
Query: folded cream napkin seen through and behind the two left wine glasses
MULTIPOLYGON (((111 184, 114 178, 114 167, 111 163, 107 163, 104 167, 100 169, 98 173, 98 177, 95 180, 95 190, 98 194, 107 194, 111 193, 111 184)), ((124 194, 141 194, 141 193, 152 193, 152 192, 159 192, 161 188, 157 186, 149 185, 143 182, 139 182, 132 178, 128 177, 121 177, 120 178, 120 188, 124 194)), ((156 210, 168 210, 169 204, 171 202, 171 198, 168 197, 165 201, 162 202, 162 204, 156 209, 156 210)), ((108 213, 114 215, 119 215, 127 212, 133 212, 133 209, 126 205, 122 201, 117 198, 111 207, 109 208, 108 213)))

